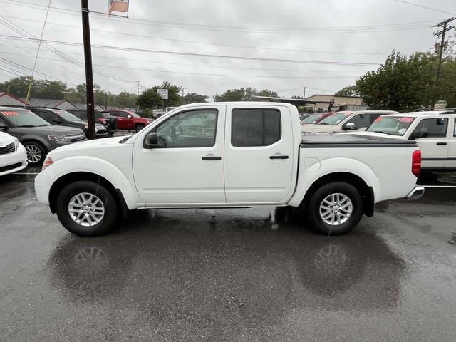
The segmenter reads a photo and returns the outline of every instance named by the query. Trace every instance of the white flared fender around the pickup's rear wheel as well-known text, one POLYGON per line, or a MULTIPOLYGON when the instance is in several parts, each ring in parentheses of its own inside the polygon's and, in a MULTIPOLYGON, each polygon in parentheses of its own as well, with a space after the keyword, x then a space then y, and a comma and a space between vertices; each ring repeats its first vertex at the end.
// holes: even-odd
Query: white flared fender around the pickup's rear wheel
POLYGON ((318 160, 317 158, 304 158, 299 165, 299 174, 296 185, 296 191, 289 201, 292 207, 298 207, 301 204, 307 190, 319 178, 331 175, 331 173, 346 172, 360 177, 368 187, 372 187, 374 202, 375 198, 381 198, 380 180, 378 180, 375 172, 365 163, 347 158, 347 157, 333 157, 325 160, 318 160))

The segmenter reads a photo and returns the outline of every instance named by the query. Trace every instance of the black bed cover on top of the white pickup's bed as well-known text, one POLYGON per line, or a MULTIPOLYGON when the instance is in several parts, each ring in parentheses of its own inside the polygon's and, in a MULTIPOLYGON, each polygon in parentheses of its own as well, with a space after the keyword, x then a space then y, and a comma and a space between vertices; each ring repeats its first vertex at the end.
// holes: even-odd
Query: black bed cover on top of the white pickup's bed
POLYGON ((331 134, 309 135, 301 140, 301 148, 306 147, 418 147, 415 140, 400 140, 368 135, 331 134))

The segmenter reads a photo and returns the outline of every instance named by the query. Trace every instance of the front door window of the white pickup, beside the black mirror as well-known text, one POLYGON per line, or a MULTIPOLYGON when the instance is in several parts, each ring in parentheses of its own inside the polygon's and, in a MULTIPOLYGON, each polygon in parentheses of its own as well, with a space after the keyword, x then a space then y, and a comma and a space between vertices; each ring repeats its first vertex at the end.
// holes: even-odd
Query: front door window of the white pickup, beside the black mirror
POLYGON ((156 128, 159 147, 212 147, 217 110, 190 110, 174 115, 156 128))

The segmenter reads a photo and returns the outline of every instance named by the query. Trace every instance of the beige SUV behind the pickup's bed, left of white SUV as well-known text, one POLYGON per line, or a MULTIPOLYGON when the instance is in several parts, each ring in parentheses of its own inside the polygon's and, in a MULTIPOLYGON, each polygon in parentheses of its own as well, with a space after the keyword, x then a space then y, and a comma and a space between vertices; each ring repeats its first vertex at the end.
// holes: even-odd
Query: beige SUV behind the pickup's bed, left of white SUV
POLYGON ((368 128, 380 115, 395 114, 392 110, 343 111, 329 115, 317 124, 302 125, 302 135, 333 134, 368 128))

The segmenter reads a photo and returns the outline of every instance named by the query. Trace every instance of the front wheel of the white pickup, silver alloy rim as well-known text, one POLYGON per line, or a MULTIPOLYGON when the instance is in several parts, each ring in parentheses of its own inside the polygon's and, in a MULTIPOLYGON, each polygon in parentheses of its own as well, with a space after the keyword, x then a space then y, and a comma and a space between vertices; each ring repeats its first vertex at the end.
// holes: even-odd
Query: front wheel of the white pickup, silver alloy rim
POLYGON ((73 182, 58 194, 57 217, 63 227, 80 237, 108 232, 117 217, 117 204, 103 185, 90 181, 73 182))

